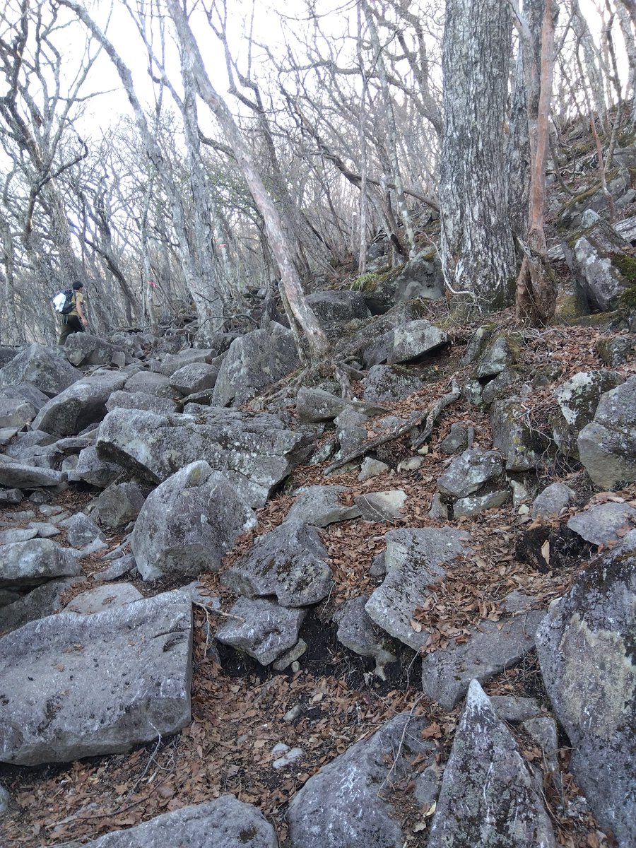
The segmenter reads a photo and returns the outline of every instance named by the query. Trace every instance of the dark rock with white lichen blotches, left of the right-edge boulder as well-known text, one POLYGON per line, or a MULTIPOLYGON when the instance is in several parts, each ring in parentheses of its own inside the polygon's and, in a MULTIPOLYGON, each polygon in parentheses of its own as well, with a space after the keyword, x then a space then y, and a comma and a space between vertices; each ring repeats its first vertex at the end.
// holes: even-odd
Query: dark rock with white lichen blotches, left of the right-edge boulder
POLYGON ((594 418, 601 395, 622 382, 616 371, 580 371, 556 389, 560 414, 552 421, 552 432, 561 453, 578 459, 579 432, 594 418))

